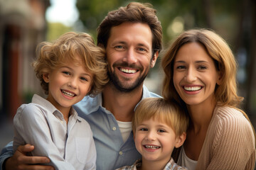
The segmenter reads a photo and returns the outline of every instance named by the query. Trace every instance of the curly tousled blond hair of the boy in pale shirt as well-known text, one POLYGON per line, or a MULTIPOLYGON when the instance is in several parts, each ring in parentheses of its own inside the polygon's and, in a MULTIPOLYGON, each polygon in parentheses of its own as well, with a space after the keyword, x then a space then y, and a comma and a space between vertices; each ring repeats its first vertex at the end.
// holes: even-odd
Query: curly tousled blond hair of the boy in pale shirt
POLYGON ((88 95, 95 96, 108 82, 105 51, 97 47, 87 33, 65 33, 53 42, 41 42, 36 51, 37 58, 32 65, 45 94, 48 94, 48 83, 43 80, 43 74, 50 73, 68 62, 82 64, 93 74, 88 95), (79 60, 76 57, 79 57, 79 60))

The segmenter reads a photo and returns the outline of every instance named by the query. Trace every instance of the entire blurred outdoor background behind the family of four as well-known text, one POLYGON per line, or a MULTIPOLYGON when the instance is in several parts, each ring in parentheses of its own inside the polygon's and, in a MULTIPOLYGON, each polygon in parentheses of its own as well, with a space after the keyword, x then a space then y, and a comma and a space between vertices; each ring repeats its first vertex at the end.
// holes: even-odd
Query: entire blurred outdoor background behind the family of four
MULTIPOLYGON (((140 1, 140 0, 139 0, 140 1)), ((73 30, 90 33, 108 11, 127 0, 0 0, 0 149, 12 140, 12 118, 33 94, 43 95, 31 62, 36 45, 73 30)), ((238 60, 242 109, 256 127, 256 1, 148 0, 163 26, 164 50, 178 34, 191 28, 210 28, 230 45, 238 60)), ((145 84, 161 94, 160 59, 145 84)))

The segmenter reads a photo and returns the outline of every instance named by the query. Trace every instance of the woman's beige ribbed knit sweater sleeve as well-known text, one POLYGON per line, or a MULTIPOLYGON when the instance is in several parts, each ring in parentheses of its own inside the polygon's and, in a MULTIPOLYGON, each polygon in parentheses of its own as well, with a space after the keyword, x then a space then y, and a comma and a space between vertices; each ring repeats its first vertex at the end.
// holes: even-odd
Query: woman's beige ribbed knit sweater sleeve
POLYGON ((209 147, 203 151, 210 153, 205 169, 254 169, 255 137, 252 126, 240 111, 218 108, 209 128, 212 140, 208 140, 209 147))

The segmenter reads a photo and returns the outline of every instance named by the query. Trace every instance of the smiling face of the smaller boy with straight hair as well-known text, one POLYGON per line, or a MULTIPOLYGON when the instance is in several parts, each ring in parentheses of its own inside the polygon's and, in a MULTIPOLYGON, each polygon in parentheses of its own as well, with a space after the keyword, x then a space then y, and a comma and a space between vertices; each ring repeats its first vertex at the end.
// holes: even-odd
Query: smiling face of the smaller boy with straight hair
POLYGON ((134 142, 142 162, 169 162, 174 147, 179 147, 179 138, 166 123, 150 118, 139 123, 134 142))

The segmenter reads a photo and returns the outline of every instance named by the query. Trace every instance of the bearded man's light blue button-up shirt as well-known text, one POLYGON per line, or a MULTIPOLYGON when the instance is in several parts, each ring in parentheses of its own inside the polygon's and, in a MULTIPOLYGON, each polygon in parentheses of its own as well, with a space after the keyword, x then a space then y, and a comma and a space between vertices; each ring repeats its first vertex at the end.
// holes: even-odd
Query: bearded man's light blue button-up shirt
MULTIPOLYGON (((160 96, 143 86, 142 98, 148 97, 160 96)), ((122 166, 131 166, 141 158, 135 147, 132 131, 127 141, 124 142, 114 115, 102 107, 102 94, 98 94, 95 98, 85 96, 82 101, 75 104, 74 108, 78 115, 85 118, 90 124, 97 151, 97 170, 112 170, 122 166)), ((0 164, 14 154, 10 144, 2 150, 0 164)))

